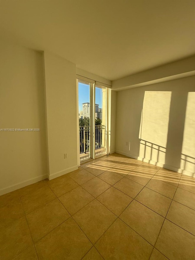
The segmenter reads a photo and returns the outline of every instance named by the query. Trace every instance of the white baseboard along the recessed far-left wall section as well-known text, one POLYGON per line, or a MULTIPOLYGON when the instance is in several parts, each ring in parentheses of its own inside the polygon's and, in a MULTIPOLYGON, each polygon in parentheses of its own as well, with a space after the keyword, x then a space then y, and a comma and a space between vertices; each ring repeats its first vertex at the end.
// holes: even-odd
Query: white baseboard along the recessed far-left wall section
POLYGON ((29 180, 25 180, 25 181, 20 182, 20 183, 16 183, 16 184, 8 186, 8 187, 5 187, 5 188, 0 190, 0 196, 3 195, 3 194, 9 193, 11 191, 16 191, 20 188, 26 187, 30 184, 36 183, 40 180, 44 180, 44 179, 47 179, 47 178, 48 178, 48 175, 44 174, 44 175, 37 176, 37 177, 29 179, 29 180))

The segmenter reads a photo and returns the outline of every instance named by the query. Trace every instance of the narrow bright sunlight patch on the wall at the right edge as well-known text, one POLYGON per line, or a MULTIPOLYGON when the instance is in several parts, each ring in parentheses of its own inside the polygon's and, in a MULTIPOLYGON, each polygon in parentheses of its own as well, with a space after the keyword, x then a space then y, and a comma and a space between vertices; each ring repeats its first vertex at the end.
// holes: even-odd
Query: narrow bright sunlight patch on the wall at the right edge
POLYGON ((195 92, 188 93, 180 168, 195 172, 195 92))

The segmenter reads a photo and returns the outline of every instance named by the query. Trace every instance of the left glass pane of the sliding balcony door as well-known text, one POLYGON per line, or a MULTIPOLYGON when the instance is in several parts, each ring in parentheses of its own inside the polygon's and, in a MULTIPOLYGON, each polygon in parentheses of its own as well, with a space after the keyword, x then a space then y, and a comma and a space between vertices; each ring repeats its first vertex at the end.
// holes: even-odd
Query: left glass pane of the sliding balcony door
POLYGON ((90 84, 79 82, 80 160, 90 158, 90 84))

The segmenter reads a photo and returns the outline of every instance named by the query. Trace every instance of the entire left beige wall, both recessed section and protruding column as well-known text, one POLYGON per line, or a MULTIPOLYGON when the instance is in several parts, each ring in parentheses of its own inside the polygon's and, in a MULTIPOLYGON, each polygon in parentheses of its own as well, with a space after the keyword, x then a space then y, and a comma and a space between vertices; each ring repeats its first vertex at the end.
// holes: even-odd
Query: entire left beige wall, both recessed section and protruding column
POLYGON ((77 169, 76 65, 0 43, 0 195, 77 169), (64 154, 67 158, 64 159, 64 154))

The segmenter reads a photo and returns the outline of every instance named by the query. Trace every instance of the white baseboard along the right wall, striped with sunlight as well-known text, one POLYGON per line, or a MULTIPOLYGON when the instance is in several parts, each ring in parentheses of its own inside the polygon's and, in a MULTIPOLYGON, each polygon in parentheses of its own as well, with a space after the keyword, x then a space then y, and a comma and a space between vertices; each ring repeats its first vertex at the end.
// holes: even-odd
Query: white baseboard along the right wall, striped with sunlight
POLYGON ((155 161, 152 161, 152 160, 149 160, 149 159, 146 159, 146 158, 142 158, 142 157, 137 156, 137 155, 125 153, 125 152, 122 152, 122 151, 119 151, 119 150, 116 150, 115 152, 122 154, 122 155, 126 155, 126 156, 134 158, 134 159, 137 159, 137 160, 142 161, 142 162, 148 162, 150 164, 153 164, 153 165, 156 165, 156 166, 159 166, 159 167, 163 167, 165 169, 168 169, 168 170, 171 170, 171 171, 174 171, 174 172, 177 172, 177 173, 182 173, 182 174, 185 174, 185 175, 188 175, 188 176, 195 178, 195 173, 181 169, 181 168, 177 168, 177 167, 172 166, 172 165, 163 164, 161 162, 155 162, 155 161))

